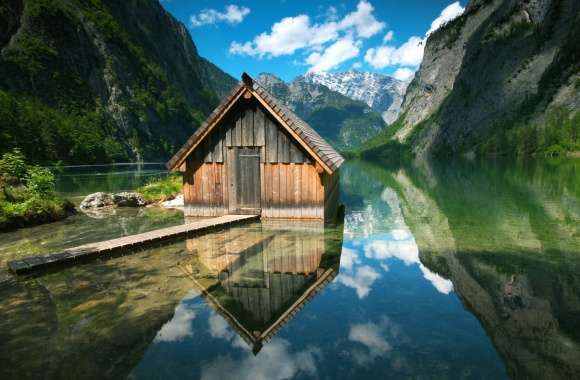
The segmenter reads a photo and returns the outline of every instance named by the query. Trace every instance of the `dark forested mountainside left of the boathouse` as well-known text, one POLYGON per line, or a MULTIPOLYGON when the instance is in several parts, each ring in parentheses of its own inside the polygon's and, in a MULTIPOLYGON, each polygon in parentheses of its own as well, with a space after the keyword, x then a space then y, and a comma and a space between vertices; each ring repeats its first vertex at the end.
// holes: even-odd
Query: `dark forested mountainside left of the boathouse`
POLYGON ((0 4, 0 153, 163 160, 235 84, 157 0, 0 4))

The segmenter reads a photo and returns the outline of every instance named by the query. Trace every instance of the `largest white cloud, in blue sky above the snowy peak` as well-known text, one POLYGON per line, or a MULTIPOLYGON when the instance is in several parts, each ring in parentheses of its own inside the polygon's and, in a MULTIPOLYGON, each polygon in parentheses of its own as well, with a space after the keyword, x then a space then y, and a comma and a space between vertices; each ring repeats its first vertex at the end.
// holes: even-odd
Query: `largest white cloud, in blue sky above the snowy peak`
POLYGON ((291 55, 298 50, 310 52, 306 58, 309 71, 331 70, 358 56, 361 41, 384 29, 385 23, 373 15, 373 6, 362 0, 357 9, 342 19, 336 8, 329 8, 330 17, 323 23, 312 23, 308 15, 285 17, 274 23, 269 32, 263 32, 251 41, 233 41, 230 53, 260 58, 291 55), (328 45, 330 44, 330 45, 328 45))

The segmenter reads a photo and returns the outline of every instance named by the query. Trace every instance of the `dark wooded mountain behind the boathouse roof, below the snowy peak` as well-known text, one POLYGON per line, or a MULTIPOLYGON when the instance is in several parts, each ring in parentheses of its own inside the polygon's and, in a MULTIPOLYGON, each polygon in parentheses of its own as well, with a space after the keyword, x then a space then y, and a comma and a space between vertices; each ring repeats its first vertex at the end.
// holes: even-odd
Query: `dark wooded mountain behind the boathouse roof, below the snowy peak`
POLYGON ((356 147, 385 127, 381 115, 365 103, 304 76, 286 83, 263 73, 256 80, 338 149, 356 147))

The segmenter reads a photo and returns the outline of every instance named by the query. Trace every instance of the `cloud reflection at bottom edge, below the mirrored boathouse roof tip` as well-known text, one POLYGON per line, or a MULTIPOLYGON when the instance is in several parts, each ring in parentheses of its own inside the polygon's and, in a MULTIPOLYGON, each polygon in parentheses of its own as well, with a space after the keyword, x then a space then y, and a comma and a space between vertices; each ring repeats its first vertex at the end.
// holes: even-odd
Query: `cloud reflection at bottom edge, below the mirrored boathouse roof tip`
POLYGON ((316 375, 315 355, 318 353, 314 348, 292 353, 288 341, 275 338, 257 356, 247 351, 240 359, 233 359, 229 355, 217 357, 202 368, 201 378, 290 379, 299 374, 313 377, 316 375))

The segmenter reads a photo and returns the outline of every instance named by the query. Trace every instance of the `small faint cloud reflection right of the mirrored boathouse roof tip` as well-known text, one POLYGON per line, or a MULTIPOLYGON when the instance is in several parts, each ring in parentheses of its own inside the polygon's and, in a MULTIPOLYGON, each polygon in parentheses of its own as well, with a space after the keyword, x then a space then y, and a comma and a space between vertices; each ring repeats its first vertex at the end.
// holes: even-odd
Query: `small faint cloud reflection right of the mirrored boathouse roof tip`
POLYGON ((352 325, 348 334, 348 339, 365 346, 366 350, 353 348, 351 354, 358 365, 367 365, 377 358, 385 357, 392 347, 387 341, 400 338, 400 328, 391 322, 388 317, 383 316, 378 323, 361 323, 352 325))

